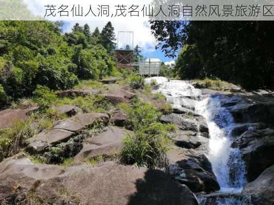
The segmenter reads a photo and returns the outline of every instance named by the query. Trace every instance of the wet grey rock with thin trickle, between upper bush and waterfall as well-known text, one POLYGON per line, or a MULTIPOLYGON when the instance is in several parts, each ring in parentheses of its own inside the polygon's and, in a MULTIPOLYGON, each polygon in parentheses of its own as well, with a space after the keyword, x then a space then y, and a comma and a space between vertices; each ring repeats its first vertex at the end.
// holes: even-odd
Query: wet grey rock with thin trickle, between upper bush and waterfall
POLYGON ((197 135, 209 137, 208 125, 203 116, 175 114, 162 115, 160 117, 162 123, 172 123, 178 126, 180 130, 193 131, 197 135))

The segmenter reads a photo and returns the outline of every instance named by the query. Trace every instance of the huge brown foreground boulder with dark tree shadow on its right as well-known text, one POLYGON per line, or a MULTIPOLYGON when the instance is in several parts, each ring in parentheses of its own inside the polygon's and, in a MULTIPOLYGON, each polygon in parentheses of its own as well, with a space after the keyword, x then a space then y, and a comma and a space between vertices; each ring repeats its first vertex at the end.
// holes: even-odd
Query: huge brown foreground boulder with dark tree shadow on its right
POLYGON ((0 163, 0 203, 197 205, 169 174, 106 162, 98 167, 34 165, 17 156, 0 163))

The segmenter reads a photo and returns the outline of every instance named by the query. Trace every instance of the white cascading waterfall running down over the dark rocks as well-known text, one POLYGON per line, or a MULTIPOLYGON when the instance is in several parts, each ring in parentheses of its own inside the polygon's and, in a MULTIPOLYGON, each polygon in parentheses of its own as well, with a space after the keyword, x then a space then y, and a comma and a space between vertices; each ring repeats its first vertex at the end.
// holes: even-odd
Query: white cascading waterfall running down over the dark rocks
MULTIPOLYGON (((221 106, 222 95, 202 96, 202 91, 182 80, 165 77, 146 78, 145 82, 156 80, 160 92, 167 97, 174 108, 189 108, 205 117, 209 128, 208 159, 221 187, 218 193, 239 193, 245 185, 245 165, 238 149, 231 148, 231 128, 234 126, 230 112, 221 106)), ((199 124, 197 123, 197 131, 199 124)), ((233 198, 217 201, 218 205, 242 204, 233 198)), ((200 204, 204 204, 200 200, 200 204)))

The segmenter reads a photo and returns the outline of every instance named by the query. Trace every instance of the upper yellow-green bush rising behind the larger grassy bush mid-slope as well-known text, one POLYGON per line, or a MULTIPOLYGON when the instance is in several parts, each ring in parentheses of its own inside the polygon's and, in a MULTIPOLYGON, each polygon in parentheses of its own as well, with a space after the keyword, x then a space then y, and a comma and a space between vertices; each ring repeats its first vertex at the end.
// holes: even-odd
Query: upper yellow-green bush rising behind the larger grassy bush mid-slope
POLYGON ((143 127, 156 122, 161 115, 153 105, 139 100, 131 106, 122 104, 120 107, 126 113, 126 128, 130 130, 141 130, 143 127))

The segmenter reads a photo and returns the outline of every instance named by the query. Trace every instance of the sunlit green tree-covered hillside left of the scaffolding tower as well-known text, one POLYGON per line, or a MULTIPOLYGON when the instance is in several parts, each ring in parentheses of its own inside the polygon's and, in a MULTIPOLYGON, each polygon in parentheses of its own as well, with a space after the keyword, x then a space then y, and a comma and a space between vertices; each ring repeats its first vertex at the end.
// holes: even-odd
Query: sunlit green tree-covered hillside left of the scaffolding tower
POLYGON ((70 89, 79 79, 113 73, 110 49, 115 35, 110 22, 102 33, 76 24, 70 33, 62 34, 62 26, 48 21, 0 22, 1 107, 32 96, 35 89, 70 89))

